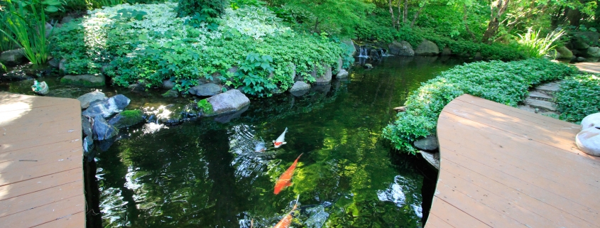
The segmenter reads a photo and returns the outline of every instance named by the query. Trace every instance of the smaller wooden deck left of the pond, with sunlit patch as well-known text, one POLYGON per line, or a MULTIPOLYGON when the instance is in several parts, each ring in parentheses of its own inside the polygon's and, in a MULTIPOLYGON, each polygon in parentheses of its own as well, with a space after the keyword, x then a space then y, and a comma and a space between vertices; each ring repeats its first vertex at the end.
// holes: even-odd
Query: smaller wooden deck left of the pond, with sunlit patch
POLYGON ((85 227, 77 99, 0 92, 0 227, 85 227))

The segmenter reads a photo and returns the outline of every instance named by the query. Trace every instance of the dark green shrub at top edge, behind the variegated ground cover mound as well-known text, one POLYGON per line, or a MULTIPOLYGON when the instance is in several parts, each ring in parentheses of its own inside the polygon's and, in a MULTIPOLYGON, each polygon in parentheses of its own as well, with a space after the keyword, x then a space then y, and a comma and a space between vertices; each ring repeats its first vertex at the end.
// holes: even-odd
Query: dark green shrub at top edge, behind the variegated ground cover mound
POLYGON ((196 13, 218 18, 225 11, 227 0, 179 0, 178 16, 194 16, 196 13))

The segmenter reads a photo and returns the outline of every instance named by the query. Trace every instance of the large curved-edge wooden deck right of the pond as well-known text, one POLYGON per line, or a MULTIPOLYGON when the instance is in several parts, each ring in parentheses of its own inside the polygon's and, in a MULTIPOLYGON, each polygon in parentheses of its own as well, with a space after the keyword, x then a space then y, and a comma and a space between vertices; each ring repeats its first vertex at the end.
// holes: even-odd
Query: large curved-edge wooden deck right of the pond
POLYGON ((600 158, 579 125, 463 95, 437 123, 432 227, 600 227, 600 158))

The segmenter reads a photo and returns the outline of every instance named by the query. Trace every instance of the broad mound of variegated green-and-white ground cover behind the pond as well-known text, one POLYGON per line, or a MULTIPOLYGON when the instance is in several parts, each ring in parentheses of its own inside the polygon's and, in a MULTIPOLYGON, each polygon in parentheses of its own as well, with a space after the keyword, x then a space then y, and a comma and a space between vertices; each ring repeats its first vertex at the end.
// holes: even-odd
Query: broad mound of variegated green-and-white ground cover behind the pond
MULTIPOLYGON (((104 72, 114 84, 159 86, 172 79, 186 91, 199 78, 220 80, 248 94, 268 96, 306 82, 342 58, 339 43, 324 34, 296 33, 263 6, 225 9, 217 26, 177 17, 178 4, 121 4, 89 11, 53 36, 52 55, 68 74, 104 72), (239 69, 237 72, 232 69, 239 69)), ((344 58, 347 59, 347 58, 344 58)))

